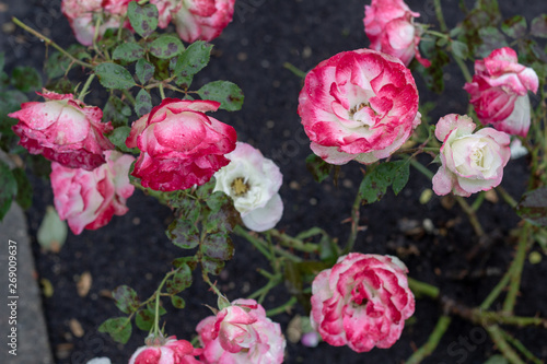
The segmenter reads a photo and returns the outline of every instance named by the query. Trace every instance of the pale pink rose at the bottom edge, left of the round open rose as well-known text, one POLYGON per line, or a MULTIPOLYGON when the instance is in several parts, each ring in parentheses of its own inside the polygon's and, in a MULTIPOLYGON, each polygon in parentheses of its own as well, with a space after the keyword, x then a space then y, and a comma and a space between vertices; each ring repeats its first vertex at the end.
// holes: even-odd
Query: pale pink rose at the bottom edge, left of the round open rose
POLYGON ((277 364, 287 344, 279 324, 266 317, 255 300, 235 300, 217 316, 202 319, 196 330, 210 364, 277 364))

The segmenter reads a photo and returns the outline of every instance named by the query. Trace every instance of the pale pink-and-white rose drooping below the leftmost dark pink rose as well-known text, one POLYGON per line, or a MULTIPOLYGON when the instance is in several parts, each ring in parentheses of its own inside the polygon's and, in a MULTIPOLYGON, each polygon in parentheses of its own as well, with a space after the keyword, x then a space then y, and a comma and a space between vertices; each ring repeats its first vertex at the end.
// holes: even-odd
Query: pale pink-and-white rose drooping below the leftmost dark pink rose
POLYGON ((129 168, 135 157, 116 151, 107 151, 105 155, 106 163, 93 171, 51 163, 55 208, 77 235, 84 228, 100 228, 113 215, 128 211, 126 200, 135 190, 129 183, 129 168))

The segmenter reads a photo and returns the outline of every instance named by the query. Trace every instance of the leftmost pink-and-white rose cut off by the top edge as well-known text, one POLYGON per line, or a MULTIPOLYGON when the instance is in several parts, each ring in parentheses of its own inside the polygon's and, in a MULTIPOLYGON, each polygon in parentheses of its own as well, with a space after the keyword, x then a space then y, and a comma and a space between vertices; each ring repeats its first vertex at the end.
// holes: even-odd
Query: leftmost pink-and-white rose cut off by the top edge
POLYGON ((102 15, 98 28, 101 37, 106 30, 119 27, 120 15, 127 12, 132 0, 62 0, 61 11, 68 17, 75 38, 84 46, 93 44, 95 35, 94 15, 102 15))

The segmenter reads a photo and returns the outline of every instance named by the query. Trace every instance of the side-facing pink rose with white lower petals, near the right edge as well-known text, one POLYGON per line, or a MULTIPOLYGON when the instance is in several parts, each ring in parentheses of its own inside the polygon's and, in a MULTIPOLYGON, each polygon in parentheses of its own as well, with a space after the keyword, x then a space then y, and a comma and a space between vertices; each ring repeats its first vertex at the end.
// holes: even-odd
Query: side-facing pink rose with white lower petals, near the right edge
POLYGON ((537 92, 536 72, 519 63, 516 52, 503 47, 475 61, 473 81, 464 89, 482 125, 526 137, 529 129, 528 91, 537 92))

